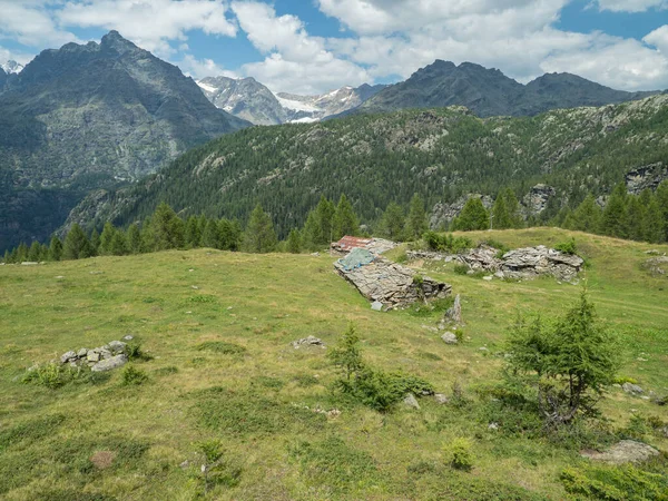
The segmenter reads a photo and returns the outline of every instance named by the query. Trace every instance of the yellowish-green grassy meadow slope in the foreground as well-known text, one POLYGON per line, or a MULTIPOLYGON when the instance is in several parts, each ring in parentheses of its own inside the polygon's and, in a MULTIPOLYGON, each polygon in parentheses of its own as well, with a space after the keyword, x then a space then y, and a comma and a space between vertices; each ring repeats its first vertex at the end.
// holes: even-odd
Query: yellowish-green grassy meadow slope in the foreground
MULTIPOLYGON (((517 247, 569 235, 527 229, 492 236, 517 247)), ((573 235, 592 264, 587 279, 599 313, 625 340, 621 373, 666 393, 668 279, 640 269, 647 245, 573 235)), ((243 464, 240 484, 219 488, 220 499, 484 499, 458 493, 462 482, 473 490, 475 482, 484 489, 521 485, 563 499, 558 473, 580 461, 574 451, 490 432, 489 421, 426 400, 421 411, 397 409, 389 415, 336 401, 327 390, 334 373, 325 351, 295 351, 288 343, 313 334, 332 345, 354 321, 374 364, 416 373, 444 393, 459 380, 470 392, 498 377, 493 354, 518 310, 557 313, 579 287, 552 279, 484 282, 449 268, 429 269, 463 298, 471 338, 446 346, 423 327, 435 325, 436 316, 372 312, 333 273, 332 261, 191 250, 0 267, 0 497, 191 499, 198 464, 179 464, 196 462, 194 442, 217 436, 243 464), (155 355, 138 364, 150 376, 141 386, 121 386, 118 372, 98 385, 59 390, 12 381, 33 362, 127 333, 140 336, 155 355), (235 343, 247 353, 198 351, 206 341, 235 343), (479 350, 483 345, 489 353, 479 350), (170 366, 178 372, 164 371, 170 366), (203 392, 213 386, 227 390, 203 392), (326 420, 303 409, 318 404, 343 413, 326 420), (439 464, 442 445, 460 435, 475 443, 471 473, 407 470, 420 462, 439 464), (343 443, 324 443, 327 438, 343 443), (311 448, 301 446, 303 441, 311 448), (102 450, 117 460, 98 471, 88 458, 102 450), (369 464, 375 468, 364 469, 369 464)), ((618 425, 627 423, 631 409, 666 419, 665 407, 617 390, 603 407, 618 425)), ((668 449, 668 441, 652 440, 668 449)))

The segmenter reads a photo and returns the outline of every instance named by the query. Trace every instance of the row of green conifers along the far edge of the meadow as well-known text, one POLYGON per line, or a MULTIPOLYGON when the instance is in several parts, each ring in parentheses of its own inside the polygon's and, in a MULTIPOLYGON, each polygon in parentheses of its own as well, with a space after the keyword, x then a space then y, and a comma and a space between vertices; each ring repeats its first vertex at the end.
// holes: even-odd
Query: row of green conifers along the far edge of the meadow
MULTIPOLYGON (((471 197, 459 216, 445 230, 482 230, 488 228, 522 228, 536 224, 524 219, 520 204, 511 188, 499 193, 488 209, 481 198, 471 197)), ((567 229, 607 235, 648 243, 668 242, 668 180, 656 191, 646 189, 639 195, 627 193, 626 185, 617 185, 605 207, 589 194, 574 209, 562 208, 549 222, 567 229)), ((205 215, 179 217, 169 205, 161 203, 155 213, 127 229, 107 222, 101 233, 90 235, 73 224, 65 240, 53 236, 48 244, 22 243, 4 253, 4 263, 79 259, 98 255, 122 256, 167 249, 208 247, 222 250, 315 252, 325 248, 344 235, 382 236, 404 242, 421 238, 429 229, 424 200, 413 195, 407 210, 392 202, 375 222, 374 228, 360 225, 360 218, 345 195, 338 203, 322 196, 301 228, 293 228, 287 238, 279 242, 269 214, 258 204, 244 228, 238 220, 209 218, 205 215)))

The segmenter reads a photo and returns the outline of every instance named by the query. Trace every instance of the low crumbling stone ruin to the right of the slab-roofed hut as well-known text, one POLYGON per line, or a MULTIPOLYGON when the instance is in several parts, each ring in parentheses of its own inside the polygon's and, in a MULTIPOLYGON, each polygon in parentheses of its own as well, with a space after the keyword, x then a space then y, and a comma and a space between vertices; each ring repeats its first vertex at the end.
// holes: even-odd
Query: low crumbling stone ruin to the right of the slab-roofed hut
POLYGON ((498 257, 499 250, 489 245, 469 249, 462 254, 441 254, 409 250, 412 259, 458 261, 473 272, 487 272, 498 278, 532 279, 541 275, 558 281, 574 282, 584 261, 576 255, 561 253, 544 245, 510 250, 498 257))

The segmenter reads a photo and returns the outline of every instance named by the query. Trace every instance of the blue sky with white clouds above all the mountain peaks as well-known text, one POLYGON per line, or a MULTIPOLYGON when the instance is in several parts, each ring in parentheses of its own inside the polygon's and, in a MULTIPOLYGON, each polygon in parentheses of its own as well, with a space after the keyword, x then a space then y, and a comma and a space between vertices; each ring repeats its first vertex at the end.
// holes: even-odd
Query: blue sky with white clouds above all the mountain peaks
POLYGON ((668 0, 0 0, 0 62, 118 30, 194 78, 321 94, 435 59, 668 88, 668 0))

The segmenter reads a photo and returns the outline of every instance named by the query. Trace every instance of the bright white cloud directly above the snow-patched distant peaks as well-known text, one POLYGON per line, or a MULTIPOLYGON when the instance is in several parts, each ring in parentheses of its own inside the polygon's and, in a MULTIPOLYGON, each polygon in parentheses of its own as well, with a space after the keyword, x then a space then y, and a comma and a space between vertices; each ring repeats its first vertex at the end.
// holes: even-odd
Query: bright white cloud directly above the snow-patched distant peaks
POLYGON ((274 91, 318 94, 371 79, 364 68, 327 50, 323 38, 310 36, 295 16, 276 16, 272 6, 257 1, 235 1, 232 10, 248 40, 266 55, 242 71, 274 91))

